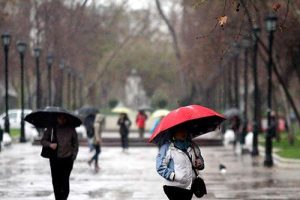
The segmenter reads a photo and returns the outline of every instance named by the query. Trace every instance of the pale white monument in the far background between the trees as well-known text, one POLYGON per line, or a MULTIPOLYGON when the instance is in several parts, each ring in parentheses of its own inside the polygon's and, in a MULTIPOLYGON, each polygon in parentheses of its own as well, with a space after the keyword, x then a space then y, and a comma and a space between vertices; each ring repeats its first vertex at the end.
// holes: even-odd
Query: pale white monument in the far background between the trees
POLYGON ((146 95, 141 77, 133 69, 125 83, 126 105, 133 109, 150 107, 150 100, 146 95))

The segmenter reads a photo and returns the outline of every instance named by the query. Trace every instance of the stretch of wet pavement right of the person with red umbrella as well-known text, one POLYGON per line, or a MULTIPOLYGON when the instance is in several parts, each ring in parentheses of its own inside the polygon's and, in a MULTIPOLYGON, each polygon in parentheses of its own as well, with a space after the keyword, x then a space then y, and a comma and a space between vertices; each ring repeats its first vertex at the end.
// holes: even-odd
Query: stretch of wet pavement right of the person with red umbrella
POLYGON ((222 163, 227 168, 225 174, 217 174, 211 172, 211 167, 216 166, 207 166, 203 175, 208 190, 214 194, 208 199, 300 199, 299 169, 265 168, 264 158, 236 156, 230 149, 223 148, 216 153, 213 148, 207 148, 204 154, 206 152, 211 155, 206 155, 207 165, 222 163))

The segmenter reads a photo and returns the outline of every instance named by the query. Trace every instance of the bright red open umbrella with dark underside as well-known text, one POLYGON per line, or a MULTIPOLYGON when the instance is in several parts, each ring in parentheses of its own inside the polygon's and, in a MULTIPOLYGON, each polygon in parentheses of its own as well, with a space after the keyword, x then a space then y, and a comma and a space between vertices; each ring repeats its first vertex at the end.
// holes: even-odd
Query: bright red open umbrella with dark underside
POLYGON ((223 115, 203 106, 180 107, 162 119, 149 142, 161 143, 168 140, 172 129, 178 126, 184 126, 192 138, 197 137, 214 131, 224 120, 223 115))

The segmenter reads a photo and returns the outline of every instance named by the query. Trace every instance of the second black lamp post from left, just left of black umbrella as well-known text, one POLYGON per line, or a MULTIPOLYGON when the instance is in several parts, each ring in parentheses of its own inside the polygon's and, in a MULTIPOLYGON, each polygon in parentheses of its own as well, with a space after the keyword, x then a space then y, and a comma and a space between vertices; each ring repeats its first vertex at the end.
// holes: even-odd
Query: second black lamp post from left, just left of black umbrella
POLYGON ((17 49, 20 54, 21 61, 21 137, 20 142, 26 142, 25 139, 25 122, 24 122, 24 56, 26 50, 25 42, 17 42, 17 49))

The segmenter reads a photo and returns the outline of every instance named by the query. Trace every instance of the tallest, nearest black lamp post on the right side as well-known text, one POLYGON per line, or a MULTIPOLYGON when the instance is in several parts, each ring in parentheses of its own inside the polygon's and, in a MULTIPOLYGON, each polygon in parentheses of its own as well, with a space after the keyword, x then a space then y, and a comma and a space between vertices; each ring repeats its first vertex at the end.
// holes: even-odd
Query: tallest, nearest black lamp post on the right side
POLYGON ((272 157, 272 132, 271 132, 271 111, 272 111, 272 48, 274 40, 274 31, 276 30, 277 17, 275 15, 269 15, 265 18, 266 29, 269 33, 269 48, 268 48, 268 131, 266 134, 266 152, 264 166, 273 166, 272 157))

